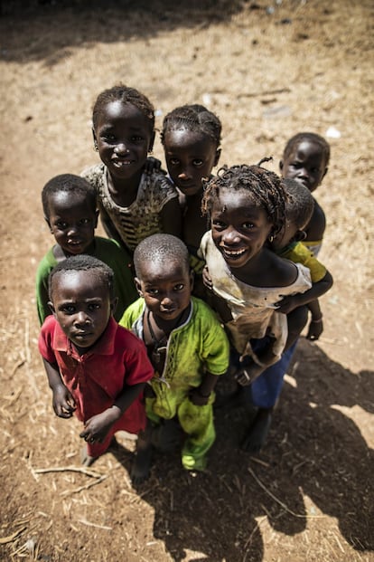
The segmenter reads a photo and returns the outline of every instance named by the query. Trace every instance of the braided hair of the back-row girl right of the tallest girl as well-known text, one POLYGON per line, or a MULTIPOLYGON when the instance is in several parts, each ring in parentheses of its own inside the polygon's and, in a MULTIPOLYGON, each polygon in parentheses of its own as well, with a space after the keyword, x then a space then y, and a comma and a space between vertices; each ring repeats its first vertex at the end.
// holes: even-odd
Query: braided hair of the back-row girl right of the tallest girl
POLYGON ((210 138, 217 147, 220 146, 220 135, 222 132, 220 119, 203 105, 197 103, 182 105, 165 115, 161 131, 161 142, 163 145, 164 136, 167 132, 180 129, 202 133, 210 138))

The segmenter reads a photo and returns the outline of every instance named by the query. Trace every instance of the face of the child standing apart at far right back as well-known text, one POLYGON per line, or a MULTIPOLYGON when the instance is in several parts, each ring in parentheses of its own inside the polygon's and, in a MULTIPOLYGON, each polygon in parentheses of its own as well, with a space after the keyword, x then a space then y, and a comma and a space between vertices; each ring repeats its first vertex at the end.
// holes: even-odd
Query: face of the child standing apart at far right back
POLYGON ((321 147, 303 140, 280 162, 282 176, 295 179, 312 193, 322 182, 327 172, 321 147))

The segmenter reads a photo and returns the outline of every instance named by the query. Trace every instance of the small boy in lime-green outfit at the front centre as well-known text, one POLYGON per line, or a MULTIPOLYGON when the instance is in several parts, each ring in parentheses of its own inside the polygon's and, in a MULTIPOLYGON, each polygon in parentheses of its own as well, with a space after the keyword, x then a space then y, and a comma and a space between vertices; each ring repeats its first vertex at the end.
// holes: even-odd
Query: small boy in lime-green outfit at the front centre
POLYGON ((186 439, 182 465, 202 471, 215 440, 212 404, 218 377, 229 367, 229 341, 209 306, 192 297, 189 254, 171 234, 154 234, 136 247, 136 287, 141 296, 120 324, 142 338, 154 366, 145 393, 148 429, 138 437, 132 478, 149 475, 152 425, 178 418, 186 439))

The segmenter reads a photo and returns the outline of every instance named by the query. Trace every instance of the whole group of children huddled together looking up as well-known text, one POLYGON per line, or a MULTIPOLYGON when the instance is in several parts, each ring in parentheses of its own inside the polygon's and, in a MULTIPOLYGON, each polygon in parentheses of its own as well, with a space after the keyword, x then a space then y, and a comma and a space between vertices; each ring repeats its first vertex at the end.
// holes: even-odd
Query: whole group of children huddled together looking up
POLYGON ((262 163, 212 176, 220 119, 186 105, 164 118, 166 176, 149 157, 154 108, 138 90, 101 92, 92 125, 101 164, 42 190, 55 244, 37 271, 39 349, 55 414, 83 422, 86 465, 117 431, 137 433, 132 479, 144 481, 155 436, 173 424, 183 467, 202 471, 215 386, 233 376, 235 398, 257 411, 242 447, 258 452, 309 311, 307 337, 323 331, 318 298, 332 276, 315 257, 325 217, 311 194, 328 143, 291 138, 283 178, 262 163), (108 239, 95 235, 98 214, 108 239))

